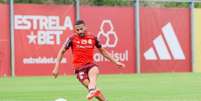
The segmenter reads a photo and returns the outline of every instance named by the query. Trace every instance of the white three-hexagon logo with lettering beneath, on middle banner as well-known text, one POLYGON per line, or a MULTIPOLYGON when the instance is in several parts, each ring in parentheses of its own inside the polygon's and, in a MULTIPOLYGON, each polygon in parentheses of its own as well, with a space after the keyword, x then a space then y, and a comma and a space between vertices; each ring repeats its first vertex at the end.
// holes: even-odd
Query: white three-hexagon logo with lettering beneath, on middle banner
MULTIPOLYGON (((114 57, 117 61, 128 61, 128 50, 125 50, 124 52, 115 52, 113 50, 117 46, 119 38, 114 30, 112 20, 102 21, 97 38, 99 40, 101 40, 102 38, 105 39, 105 42, 102 43, 102 46, 104 48, 112 48, 110 53, 112 57, 114 57), (109 30, 106 30, 105 26, 109 26, 109 30)), ((109 61, 104 58, 100 53, 94 54, 94 60, 96 62, 109 61)))

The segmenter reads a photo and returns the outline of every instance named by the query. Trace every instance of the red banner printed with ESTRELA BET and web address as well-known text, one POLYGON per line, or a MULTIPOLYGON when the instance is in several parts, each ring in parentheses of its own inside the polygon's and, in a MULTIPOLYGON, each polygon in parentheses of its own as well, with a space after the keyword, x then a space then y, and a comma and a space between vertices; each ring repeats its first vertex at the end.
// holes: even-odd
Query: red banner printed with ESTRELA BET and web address
MULTIPOLYGON (((72 5, 15 5, 15 73, 51 75, 57 52, 73 30, 72 5)), ((61 74, 72 74, 70 52, 61 74)))

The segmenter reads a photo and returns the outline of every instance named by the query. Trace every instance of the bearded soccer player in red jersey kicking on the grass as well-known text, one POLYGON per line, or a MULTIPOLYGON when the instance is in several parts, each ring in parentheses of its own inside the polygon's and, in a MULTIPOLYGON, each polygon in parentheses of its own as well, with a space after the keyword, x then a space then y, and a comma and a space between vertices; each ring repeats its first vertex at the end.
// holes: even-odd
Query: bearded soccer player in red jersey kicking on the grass
POLYGON ((83 20, 76 21, 74 27, 74 35, 67 38, 66 42, 59 50, 52 74, 55 78, 57 78, 59 74, 59 64, 62 57, 66 50, 71 48, 73 54, 73 67, 75 69, 77 79, 89 91, 87 99, 91 100, 96 97, 99 101, 106 101, 106 98, 100 89, 96 88, 96 79, 99 74, 99 69, 93 60, 94 48, 96 47, 104 57, 116 64, 117 67, 124 68, 125 64, 116 61, 110 53, 101 46, 97 37, 87 31, 87 27, 83 20))

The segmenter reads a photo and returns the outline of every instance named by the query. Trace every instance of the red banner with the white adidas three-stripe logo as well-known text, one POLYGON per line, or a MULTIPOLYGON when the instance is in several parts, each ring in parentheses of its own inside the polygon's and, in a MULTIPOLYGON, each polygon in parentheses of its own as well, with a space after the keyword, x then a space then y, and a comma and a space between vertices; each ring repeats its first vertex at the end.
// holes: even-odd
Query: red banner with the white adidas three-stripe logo
POLYGON ((141 8, 141 71, 190 72, 189 9, 141 8))

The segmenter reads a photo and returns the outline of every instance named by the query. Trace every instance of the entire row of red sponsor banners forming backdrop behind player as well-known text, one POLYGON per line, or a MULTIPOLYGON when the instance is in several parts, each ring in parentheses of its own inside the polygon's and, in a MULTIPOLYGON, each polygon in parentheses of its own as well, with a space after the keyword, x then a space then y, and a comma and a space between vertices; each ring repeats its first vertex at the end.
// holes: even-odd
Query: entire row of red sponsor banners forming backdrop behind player
MULTIPOLYGON (((10 74, 8 6, 0 5, 0 75, 10 74)), ((50 75, 61 45, 73 31, 72 5, 15 5, 15 73, 50 75), (25 9, 26 8, 26 9, 25 9)), ((141 8, 141 71, 189 72, 190 18, 188 9, 141 8)), ((119 70, 95 52, 101 73, 135 73, 135 25, 132 7, 81 7, 88 30, 117 60, 119 70)), ((71 50, 62 60, 61 74, 72 74, 71 50)))

